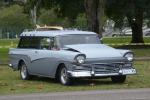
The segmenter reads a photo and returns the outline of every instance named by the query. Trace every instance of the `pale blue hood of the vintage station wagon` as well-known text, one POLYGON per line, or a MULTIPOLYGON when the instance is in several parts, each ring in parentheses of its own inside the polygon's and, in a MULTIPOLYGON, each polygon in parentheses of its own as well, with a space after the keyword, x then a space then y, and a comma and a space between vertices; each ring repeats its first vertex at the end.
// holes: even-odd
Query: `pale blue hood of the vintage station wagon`
POLYGON ((86 55, 86 58, 122 57, 119 50, 104 44, 66 45, 66 48, 86 55))

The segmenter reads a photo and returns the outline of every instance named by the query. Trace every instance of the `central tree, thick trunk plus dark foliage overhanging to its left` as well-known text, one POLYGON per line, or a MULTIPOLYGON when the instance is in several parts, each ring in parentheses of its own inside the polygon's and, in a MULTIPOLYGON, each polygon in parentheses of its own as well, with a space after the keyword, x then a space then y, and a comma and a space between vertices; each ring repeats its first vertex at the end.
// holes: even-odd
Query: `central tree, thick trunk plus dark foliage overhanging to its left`
POLYGON ((103 30, 104 2, 105 0, 28 0, 27 11, 33 9, 35 4, 38 8, 54 8, 58 17, 69 20, 71 26, 76 24, 76 18, 86 11, 88 29, 101 35, 103 30), (41 1, 41 3, 38 3, 41 1))

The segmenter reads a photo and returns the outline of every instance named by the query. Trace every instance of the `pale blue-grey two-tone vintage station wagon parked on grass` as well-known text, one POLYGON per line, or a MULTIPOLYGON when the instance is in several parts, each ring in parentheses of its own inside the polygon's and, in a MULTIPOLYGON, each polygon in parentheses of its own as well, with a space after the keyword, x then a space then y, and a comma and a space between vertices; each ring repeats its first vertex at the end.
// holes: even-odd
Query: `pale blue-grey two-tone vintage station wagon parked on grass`
POLYGON ((74 78, 111 78, 123 83, 136 74, 133 52, 114 49, 88 31, 30 31, 20 35, 17 48, 9 51, 9 66, 27 80, 32 75, 56 78, 69 85, 74 78))

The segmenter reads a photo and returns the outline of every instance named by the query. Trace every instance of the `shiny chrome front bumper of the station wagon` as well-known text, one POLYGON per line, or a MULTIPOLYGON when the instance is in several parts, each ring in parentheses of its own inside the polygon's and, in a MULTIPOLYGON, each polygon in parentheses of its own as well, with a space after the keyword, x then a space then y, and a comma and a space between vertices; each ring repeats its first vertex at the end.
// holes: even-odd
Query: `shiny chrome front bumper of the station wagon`
POLYGON ((130 69, 121 69, 118 73, 103 73, 103 74, 95 74, 94 71, 68 71, 71 77, 79 78, 79 77, 109 77, 109 76, 117 76, 117 75, 133 75, 136 74, 136 70, 134 68, 130 69))

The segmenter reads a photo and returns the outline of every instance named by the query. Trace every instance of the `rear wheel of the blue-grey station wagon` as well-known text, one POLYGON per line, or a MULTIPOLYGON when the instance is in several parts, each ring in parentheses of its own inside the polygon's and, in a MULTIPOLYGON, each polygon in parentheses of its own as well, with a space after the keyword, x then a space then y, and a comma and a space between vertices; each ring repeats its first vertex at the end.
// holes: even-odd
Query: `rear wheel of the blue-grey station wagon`
POLYGON ((27 66, 24 62, 22 62, 21 66, 20 66, 20 77, 21 77, 22 80, 30 79, 30 75, 28 73, 27 66))

